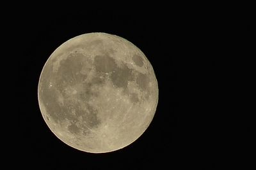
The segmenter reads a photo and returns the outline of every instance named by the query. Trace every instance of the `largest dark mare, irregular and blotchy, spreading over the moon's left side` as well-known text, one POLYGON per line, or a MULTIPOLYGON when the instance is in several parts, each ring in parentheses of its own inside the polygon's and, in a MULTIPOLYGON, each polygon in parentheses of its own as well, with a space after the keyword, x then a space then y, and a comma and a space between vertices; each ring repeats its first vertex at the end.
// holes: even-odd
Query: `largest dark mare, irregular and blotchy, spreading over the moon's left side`
MULTIPOLYGON (((69 120, 70 125, 68 126, 68 130, 72 133, 79 132, 79 127, 77 127, 79 116, 82 117, 83 122, 86 122, 86 125, 82 125, 83 129, 87 129, 88 127, 95 128, 100 124, 100 120, 97 118, 98 111, 86 103, 92 96, 97 96, 97 93, 92 92, 92 85, 83 82, 86 76, 79 72, 83 64, 86 64, 83 61, 83 54, 71 54, 67 59, 60 61, 60 67, 57 73, 52 73, 52 64, 46 64, 44 72, 41 75, 42 83, 40 89, 46 87, 43 88, 44 92, 41 93, 41 99, 43 103, 47 103, 45 106, 47 113, 54 122, 59 123, 66 119, 69 120), (49 87, 50 83, 52 83, 52 87, 49 87), (77 84, 83 85, 83 90, 78 91, 75 96, 68 94, 67 89, 72 89, 77 84), (63 96, 62 104, 58 101, 60 95, 63 96), (81 108, 81 104, 79 103, 83 101, 86 110, 81 108)), ((92 83, 102 82, 95 77, 92 83)))

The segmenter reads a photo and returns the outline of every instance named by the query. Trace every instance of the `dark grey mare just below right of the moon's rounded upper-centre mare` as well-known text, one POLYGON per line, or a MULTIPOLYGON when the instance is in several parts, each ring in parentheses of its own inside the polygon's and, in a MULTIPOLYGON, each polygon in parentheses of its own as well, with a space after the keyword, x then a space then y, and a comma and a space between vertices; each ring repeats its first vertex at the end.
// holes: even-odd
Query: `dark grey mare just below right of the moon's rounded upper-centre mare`
POLYGON ((128 81, 132 80, 132 69, 123 64, 121 67, 116 67, 110 78, 116 87, 127 88, 128 81))

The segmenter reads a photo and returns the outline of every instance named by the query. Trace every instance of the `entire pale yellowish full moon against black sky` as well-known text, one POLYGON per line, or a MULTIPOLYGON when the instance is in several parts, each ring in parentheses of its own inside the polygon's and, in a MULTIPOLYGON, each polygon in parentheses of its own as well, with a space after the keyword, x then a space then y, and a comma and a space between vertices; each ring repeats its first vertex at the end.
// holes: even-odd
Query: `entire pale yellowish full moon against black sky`
POLYGON ((90 153, 130 145, 156 113, 154 69, 141 50, 120 36, 93 32, 69 39, 45 62, 38 103, 61 141, 90 153))

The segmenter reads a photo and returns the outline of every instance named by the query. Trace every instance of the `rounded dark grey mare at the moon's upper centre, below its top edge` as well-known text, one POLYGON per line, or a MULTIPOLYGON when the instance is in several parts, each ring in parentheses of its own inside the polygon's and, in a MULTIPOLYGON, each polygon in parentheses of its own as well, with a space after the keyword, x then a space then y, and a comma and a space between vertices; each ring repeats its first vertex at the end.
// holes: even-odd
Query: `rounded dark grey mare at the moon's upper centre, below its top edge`
POLYGON ((115 60, 108 55, 96 55, 93 64, 96 71, 102 73, 109 73, 116 68, 115 60))

